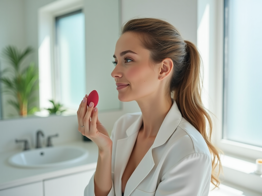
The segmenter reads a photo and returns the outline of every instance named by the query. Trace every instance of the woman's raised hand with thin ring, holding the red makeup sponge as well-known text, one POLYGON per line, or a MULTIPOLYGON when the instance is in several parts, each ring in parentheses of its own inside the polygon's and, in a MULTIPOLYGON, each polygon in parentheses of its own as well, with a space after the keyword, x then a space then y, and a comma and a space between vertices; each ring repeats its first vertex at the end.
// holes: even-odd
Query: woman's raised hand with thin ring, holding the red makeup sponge
POLYGON ((106 128, 98 119, 97 107, 94 108, 93 102, 91 102, 90 106, 87 107, 87 95, 85 95, 79 105, 77 119, 78 131, 95 142, 100 151, 111 149, 112 140, 110 139, 106 128))

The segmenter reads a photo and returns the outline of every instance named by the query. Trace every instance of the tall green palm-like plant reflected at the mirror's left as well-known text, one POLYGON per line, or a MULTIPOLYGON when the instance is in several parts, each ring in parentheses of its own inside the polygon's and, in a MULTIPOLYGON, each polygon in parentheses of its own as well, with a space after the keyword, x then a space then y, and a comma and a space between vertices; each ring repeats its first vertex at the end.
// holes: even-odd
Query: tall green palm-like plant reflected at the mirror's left
POLYGON ((39 111, 38 107, 29 106, 37 98, 33 96, 39 88, 37 67, 34 62, 24 68, 21 66, 22 60, 32 51, 31 47, 19 51, 14 46, 7 46, 3 50, 3 57, 8 60, 10 66, 0 72, 0 81, 4 84, 2 92, 14 97, 14 100, 9 99, 7 102, 23 117, 39 111))

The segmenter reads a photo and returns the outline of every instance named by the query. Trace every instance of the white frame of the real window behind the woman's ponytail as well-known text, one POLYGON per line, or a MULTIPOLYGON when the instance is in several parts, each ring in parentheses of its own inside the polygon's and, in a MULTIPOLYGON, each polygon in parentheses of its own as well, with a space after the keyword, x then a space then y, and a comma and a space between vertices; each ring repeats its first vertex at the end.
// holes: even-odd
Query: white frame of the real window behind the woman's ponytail
MULTIPOLYGON (((241 142, 231 141, 223 139, 223 129, 225 128, 225 116, 224 116, 224 98, 225 98, 225 1, 216 1, 216 72, 213 80, 215 82, 215 97, 213 100, 216 103, 213 114, 215 114, 214 132, 216 133, 212 139, 215 140, 216 146, 218 146, 225 154, 231 155, 243 160, 254 162, 255 159, 262 157, 262 148, 253 146, 241 142)), ((212 80, 212 79, 210 79, 212 80)))

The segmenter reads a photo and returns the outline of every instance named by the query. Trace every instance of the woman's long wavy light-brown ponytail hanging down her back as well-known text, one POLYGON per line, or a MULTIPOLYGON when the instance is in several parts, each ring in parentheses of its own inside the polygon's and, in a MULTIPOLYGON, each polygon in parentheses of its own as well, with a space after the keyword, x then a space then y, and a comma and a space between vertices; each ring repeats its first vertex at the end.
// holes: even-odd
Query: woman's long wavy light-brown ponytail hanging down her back
MULTIPOLYGON (((200 55, 196 46, 189 41, 185 41, 186 56, 184 60, 185 72, 182 82, 174 91, 173 99, 176 100, 177 106, 182 116, 191 123, 203 136, 208 145, 212 157, 211 183, 215 187, 219 186, 218 175, 220 173, 221 161, 218 150, 211 144, 212 121, 209 114, 204 109, 201 101, 200 86, 200 55), (209 124, 209 131, 206 129, 206 119, 209 124), (215 174, 215 168, 219 163, 219 171, 215 174)), ((203 85, 203 81, 202 81, 203 85)))

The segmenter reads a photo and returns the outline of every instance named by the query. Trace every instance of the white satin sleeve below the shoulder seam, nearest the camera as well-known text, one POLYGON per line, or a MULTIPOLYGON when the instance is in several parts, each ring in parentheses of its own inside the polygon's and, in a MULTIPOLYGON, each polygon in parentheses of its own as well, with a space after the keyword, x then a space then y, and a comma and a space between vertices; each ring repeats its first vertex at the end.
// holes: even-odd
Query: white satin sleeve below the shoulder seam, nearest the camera
POLYGON ((189 154, 163 175, 155 196, 208 196, 211 170, 209 155, 189 154))

